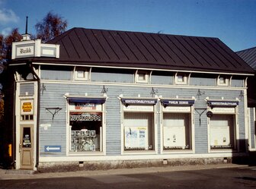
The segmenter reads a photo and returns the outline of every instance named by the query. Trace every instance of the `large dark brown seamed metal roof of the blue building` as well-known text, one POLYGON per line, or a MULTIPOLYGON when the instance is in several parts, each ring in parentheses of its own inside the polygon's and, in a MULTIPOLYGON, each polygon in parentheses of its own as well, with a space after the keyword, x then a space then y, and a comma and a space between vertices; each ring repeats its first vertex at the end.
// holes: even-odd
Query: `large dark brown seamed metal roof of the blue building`
POLYGON ((73 28, 48 43, 60 45, 59 59, 33 61, 183 71, 253 73, 218 38, 73 28))

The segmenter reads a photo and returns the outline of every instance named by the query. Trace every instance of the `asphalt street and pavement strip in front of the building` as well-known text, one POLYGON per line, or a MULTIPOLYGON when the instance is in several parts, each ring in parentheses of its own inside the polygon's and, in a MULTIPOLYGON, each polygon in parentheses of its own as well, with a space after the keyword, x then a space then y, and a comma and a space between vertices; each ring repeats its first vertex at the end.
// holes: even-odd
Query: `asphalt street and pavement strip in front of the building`
POLYGON ((256 166, 235 164, 32 173, 1 170, 0 189, 252 189, 256 186, 256 166))

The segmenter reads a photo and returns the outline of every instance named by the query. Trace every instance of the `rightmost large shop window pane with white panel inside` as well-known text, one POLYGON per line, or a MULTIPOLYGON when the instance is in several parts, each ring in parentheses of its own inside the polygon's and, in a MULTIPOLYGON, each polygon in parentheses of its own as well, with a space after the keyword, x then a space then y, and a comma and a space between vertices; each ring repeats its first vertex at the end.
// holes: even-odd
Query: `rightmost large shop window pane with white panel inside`
POLYGON ((235 115, 210 118, 210 150, 235 149, 235 115))

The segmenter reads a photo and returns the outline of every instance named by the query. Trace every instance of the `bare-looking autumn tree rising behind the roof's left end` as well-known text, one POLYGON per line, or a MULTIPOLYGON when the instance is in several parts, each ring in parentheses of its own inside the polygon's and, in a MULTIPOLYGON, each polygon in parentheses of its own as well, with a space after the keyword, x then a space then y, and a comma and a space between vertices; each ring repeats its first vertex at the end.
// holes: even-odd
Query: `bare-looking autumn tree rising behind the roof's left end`
POLYGON ((67 20, 63 20, 58 14, 49 12, 42 21, 35 25, 37 30, 37 39, 42 39, 42 42, 45 43, 46 41, 64 33, 67 26, 67 20))

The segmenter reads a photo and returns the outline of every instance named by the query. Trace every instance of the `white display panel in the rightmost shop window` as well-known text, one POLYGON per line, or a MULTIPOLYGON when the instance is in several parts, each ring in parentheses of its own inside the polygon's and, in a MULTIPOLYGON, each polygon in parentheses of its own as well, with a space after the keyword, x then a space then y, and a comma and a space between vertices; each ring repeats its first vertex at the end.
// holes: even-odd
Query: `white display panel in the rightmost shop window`
POLYGON ((210 126, 210 146, 212 148, 231 147, 229 126, 210 126))

